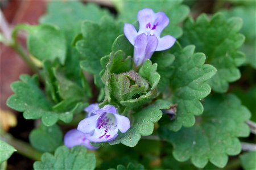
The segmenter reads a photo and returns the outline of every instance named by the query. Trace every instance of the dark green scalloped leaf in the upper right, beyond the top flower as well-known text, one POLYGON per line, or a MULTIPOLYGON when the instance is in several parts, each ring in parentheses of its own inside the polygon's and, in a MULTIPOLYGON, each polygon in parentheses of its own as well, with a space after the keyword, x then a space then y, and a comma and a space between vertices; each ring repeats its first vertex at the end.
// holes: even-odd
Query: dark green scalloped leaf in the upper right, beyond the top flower
POLYGON ((238 33, 241 27, 241 18, 226 20, 221 14, 215 14, 212 19, 202 14, 196 22, 189 18, 184 23, 181 44, 194 44, 197 52, 205 53, 207 63, 216 67, 216 75, 208 81, 216 92, 226 92, 229 82, 241 76, 237 68, 245 61, 245 55, 238 50, 245 41, 238 33))

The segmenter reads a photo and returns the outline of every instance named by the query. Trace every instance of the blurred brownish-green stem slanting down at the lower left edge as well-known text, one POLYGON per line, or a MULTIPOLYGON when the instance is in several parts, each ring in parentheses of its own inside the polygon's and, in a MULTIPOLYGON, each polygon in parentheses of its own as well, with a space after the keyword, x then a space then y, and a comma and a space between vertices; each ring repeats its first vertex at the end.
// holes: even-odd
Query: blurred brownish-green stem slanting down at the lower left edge
POLYGON ((15 139, 10 134, 1 134, 1 140, 13 146, 17 152, 32 160, 41 160, 42 152, 35 150, 28 143, 15 139))

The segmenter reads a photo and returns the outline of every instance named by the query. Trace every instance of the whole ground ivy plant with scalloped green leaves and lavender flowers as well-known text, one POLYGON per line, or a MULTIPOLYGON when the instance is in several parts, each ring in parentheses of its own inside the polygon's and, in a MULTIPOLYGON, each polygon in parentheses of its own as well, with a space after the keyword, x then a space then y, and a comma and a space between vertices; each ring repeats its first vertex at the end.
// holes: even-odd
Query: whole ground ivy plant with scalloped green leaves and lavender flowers
MULTIPOLYGON (((255 151, 240 155, 241 141, 254 138, 241 139, 255 121, 255 102, 246 103, 255 80, 243 79, 247 97, 232 83, 247 63, 255 68, 243 50, 245 36, 255 40, 242 27, 247 11, 195 16, 182 1, 113 5, 116 15, 93 3, 49 2, 38 25, 17 25, 11 40, 1 39, 35 71, 11 84, 7 100, 37 122, 28 137, 39 155, 28 156, 34 169, 255 168, 255 151)), ((1 134, 1 163, 22 154, 10 138, 1 134)))

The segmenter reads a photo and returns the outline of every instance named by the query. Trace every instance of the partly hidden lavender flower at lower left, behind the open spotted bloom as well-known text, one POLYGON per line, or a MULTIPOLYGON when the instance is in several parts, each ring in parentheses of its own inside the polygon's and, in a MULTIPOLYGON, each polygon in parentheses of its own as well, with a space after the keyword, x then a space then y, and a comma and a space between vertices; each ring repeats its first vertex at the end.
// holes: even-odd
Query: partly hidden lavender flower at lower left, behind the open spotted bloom
POLYGON ((71 148, 76 145, 83 145, 89 150, 96 150, 98 147, 90 145, 90 141, 86 138, 86 134, 77 129, 69 130, 64 137, 64 145, 71 148))

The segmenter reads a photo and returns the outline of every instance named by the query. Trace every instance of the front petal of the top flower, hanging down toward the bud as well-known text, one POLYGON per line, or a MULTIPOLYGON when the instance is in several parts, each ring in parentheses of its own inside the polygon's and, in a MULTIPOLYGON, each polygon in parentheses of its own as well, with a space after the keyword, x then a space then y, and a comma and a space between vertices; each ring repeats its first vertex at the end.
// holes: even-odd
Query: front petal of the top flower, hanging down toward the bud
POLYGON ((158 46, 156 36, 146 36, 144 33, 137 36, 134 44, 134 62, 137 66, 141 65, 146 59, 151 58, 158 46))

